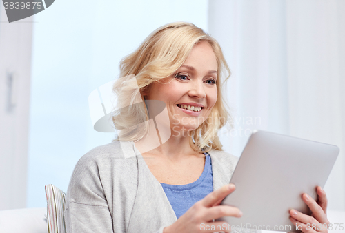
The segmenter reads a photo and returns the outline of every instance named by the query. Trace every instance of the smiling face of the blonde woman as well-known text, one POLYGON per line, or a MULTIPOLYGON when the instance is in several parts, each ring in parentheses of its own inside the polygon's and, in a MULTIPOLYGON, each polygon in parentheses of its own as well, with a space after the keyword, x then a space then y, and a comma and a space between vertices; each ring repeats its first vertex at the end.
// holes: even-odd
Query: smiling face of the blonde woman
POLYGON ((170 127, 195 130, 209 116, 217 101, 217 59, 206 41, 194 46, 173 77, 152 83, 148 100, 166 103, 170 127))

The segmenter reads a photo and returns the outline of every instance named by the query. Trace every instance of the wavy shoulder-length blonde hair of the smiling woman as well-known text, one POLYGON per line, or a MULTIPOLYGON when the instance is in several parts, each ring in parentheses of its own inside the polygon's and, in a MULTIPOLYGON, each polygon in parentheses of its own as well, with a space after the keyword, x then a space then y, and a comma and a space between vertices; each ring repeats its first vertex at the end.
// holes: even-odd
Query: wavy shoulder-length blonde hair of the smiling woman
POLYGON ((221 94, 221 85, 230 76, 230 69, 224 59, 217 41, 204 30, 192 23, 170 23, 152 32, 135 52, 124 57, 120 63, 121 81, 115 82, 113 90, 119 97, 118 103, 128 106, 113 112, 112 121, 116 129, 121 129, 115 140, 138 141, 148 132, 148 112, 143 93, 151 83, 170 77, 187 59, 193 47, 200 41, 207 41, 215 52, 217 59, 217 102, 208 119, 204 121, 190 136, 190 146, 195 152, 208 152, 211 148, 222 150, 217 135, 230 117, 221 94), (139 90, 130 83, 130 78, 137 80, 139 90), (222 82, 221 78, 225 77, 222 82), (141 104, 138 103, 142 101, 141 104), (135 127, 133 125, 139 125, 135 127))

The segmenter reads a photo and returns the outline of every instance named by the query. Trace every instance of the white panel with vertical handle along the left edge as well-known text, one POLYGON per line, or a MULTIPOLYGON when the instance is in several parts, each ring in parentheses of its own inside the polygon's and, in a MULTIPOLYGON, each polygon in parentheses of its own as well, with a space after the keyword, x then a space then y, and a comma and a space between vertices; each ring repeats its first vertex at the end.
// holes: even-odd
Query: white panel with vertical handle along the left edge
POLYGON ((30 21, 8 23, 0 4, 0 210, 26 207, 30 21))

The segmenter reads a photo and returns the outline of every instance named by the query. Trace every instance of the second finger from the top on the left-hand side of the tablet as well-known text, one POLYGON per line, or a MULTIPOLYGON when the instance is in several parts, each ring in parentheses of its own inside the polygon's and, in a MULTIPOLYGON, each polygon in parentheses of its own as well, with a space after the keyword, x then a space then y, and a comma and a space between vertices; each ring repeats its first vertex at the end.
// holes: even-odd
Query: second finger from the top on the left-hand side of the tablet
POLYGON ((242 217, 242 212, 237 207, 229 205, 217 205, 208 208, 205 212, 206 221, 212 221, 213 219, 219 219, 223 216, 233 216, 236 218, 242 217))

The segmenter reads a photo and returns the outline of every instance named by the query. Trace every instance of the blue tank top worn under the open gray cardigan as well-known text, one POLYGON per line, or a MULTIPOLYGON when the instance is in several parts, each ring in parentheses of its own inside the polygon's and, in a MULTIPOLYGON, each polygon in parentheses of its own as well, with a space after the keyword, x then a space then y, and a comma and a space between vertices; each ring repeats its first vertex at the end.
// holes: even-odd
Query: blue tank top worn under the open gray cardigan
POLYGON ((204 199, 213 191, 213 174, 210 155, 205 154, 205 167, 199 179, 186 185, 168 185, 161 183, 174 210, 177 219, 183 215, 194 203, 204 199))

